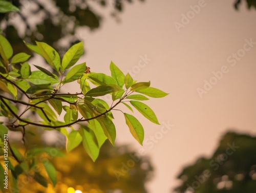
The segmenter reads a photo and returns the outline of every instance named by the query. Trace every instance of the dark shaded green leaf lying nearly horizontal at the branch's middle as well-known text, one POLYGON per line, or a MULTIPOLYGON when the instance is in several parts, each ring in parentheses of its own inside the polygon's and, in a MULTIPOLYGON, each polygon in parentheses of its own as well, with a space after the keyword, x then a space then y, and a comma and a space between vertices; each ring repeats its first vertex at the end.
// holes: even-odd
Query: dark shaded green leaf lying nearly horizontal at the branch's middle
POLYGON ((109 93, 114 93, 120 90, 120 87, 118 85, 112 84, 112 85, 102 85, 99 87, 96 87, 94 89, 91 89, 86 93, 86 96, 96 97, 96 96, 103 96, 109 93))

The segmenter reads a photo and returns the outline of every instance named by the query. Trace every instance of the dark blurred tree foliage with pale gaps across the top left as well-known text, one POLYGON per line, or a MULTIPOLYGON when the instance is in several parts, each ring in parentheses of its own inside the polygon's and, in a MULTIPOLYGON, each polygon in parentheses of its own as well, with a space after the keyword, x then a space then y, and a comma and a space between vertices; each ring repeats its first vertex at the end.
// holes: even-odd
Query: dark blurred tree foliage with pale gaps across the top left
POLYGON ((111 15, 118 19, 118 13, 123 11, 125 2, 132 3, 132 0, 13 0, 10 2, 18 7, 20 12, 1 13, 0 26, 16 54, 30 53, 22 39, 30 44, 44 41, 58 52, 65 52, 74 42, 82 40, 83 34, 76 34, 78 27, 87 27, 90 30, 100 27, 103 17, 103 13, 100 12, 103 10, 99 8, 111 7, 111 15))

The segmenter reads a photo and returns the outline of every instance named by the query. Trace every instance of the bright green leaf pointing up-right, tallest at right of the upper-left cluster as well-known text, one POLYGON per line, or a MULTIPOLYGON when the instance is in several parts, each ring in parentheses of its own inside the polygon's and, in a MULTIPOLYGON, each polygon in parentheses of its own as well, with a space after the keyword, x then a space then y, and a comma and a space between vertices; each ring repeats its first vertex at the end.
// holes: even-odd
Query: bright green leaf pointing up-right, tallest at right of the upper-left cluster
POLYGON ((79 42, 72 46, 66 54, 63 56, 62 59, 62 71, 72 67, 78 59, 81 57, 83 53, 83 43, 79 42))

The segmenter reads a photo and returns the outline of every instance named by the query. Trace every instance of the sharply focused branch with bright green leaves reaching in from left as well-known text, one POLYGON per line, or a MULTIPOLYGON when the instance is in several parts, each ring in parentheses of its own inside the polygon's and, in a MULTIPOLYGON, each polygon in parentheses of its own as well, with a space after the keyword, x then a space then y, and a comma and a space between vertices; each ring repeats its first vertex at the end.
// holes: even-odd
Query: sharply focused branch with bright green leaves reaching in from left
MULTIPOLYGON (((28 61, 30 55, 22 52, 13 56, 8 40, 0 35, 0 63, 3 64, 0 66, 0 117, 4 118, 4 122, 0 123, 1 147, 4 134, 8 131, 22 132, 24 138, 28 128, 33 126, 56 130, 65 135, 67 152, 82 143, 85 151, 95 161, 105 140, 115 144, 116 127, 112 110, 118 104, 123 103, 133 112, 127 104, 130 102, 148 120, 159 124, 154 111, 140 100, 148 100, 144 95, 159 98, 167 93, 151 88, 150 81, 136 83, 113 62, 110 63, 111 76, 90 73, 86 62, 75 65, 83 53, 82 42, 72 46, 62 60, 56 50, 45 42, 36 41, 36 45, 26 45, 32 52, 42 56, 51 70, 43 65, 34 65, 38 70, 32 71, 28 61), (80 88, 78 92, 61 92, 67 83, 74 85, 77 82, 80 88), (136 92, 141 94, 134 94, 136 92), (112 95, 111 105, 104 100, 108 94, 112 95), (77 126, 78 130, 75 129, 77 126), (68 127, 70 132, 67 131, 68 127)), ((132 136, 142 145, 143 126, 133 115, 120 112, 124 114, 132 136)), ((39 158, 41 155, 51 154, 47 148, 19 151, 11 145, 8 147, 12 156, 10 164, 14 165, 11 170, 14 185, 18 176, 42 164, 39 158)), ((57 173, 54 166, 49 162, 44 163, 44 171, 31 177, 42 186, 47 186, 48 181, 55 186, 57 173)))

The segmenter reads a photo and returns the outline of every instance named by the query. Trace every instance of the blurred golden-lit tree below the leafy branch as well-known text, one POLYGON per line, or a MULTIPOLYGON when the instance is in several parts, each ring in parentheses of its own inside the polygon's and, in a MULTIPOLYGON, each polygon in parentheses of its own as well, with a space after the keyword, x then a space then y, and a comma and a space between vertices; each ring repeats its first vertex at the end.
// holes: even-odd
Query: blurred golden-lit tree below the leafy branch
MULTIPOLYGON (((46 136, 55 135, 49 131, 45 134, 46 136)), ((35 147, 38 149, 49 148, 45 140, 40 139, 42 135, 41 131, 31 127, 25 137, 25 149, 30 151, 35 147)), ((131 151, 131 148, 127 145, 116 145, 113 147, 111 143, 105 142, 101 147, 98 159, 93 162, 86 151, 84 151, 82 144, 71 152, 66 153, 65 137, 62 135, 58 136, 58 140, 51 147, 51 152, 57 152, 57 149, 61 149, 65 156, 53 158, 44 153, 35 155, 39 156, 39 160, 41 160, 39 169, 27 171, 27 174, 30 175, 39 171, 38 174, 47 179, 48 174, 44 169, 44 164, 52 163, 57 170, 58 182, 56 186, 53 187, 50 181, 42 182, 41 184, 48 183, 48 187, 44 187, 33 178, 24 180, 26 174, 23 174, 18 178, 20 188, 18 192, 74 193, 75 190, 81 190, 83 193, 147 192, 145 183, 153 177, 153 167, 148 157, 140 156, 138 153, 131 151)), ((20 141, 13 144, 16 147, 24 146, 20 141)), ((13 192, 16 192, 15 189, 13 189, 13 192)))

